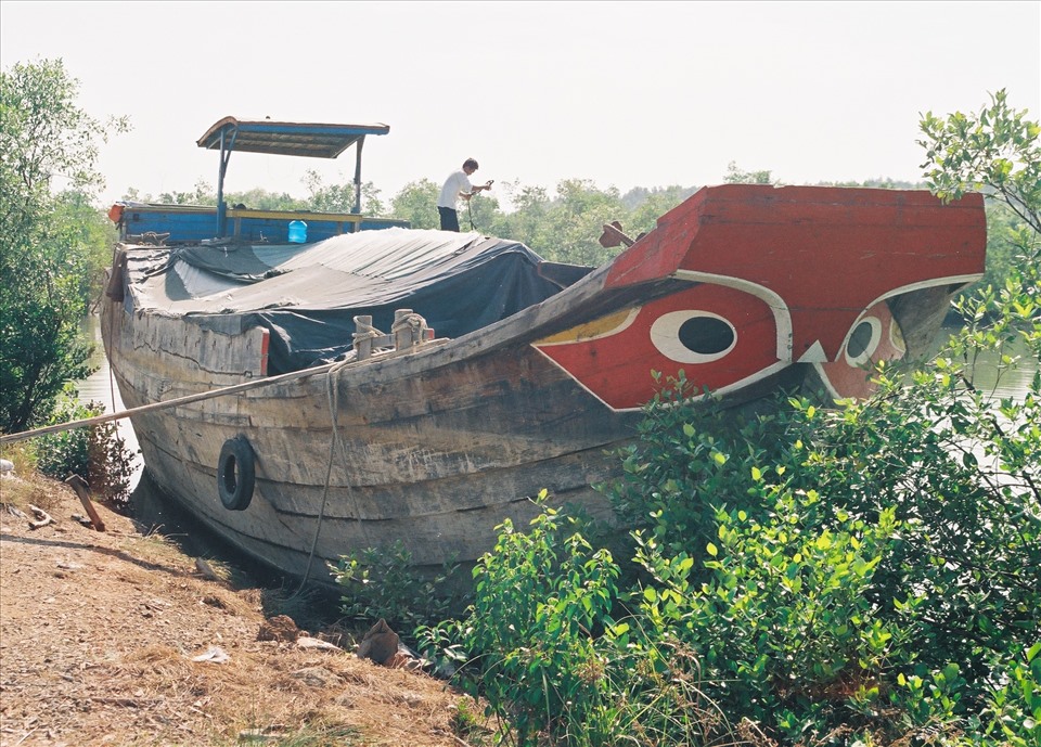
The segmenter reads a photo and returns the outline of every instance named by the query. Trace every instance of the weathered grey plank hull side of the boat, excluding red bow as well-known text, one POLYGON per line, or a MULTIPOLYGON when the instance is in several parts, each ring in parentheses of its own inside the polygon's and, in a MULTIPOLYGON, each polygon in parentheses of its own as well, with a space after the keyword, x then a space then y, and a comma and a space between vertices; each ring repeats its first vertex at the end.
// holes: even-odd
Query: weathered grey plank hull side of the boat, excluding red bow
MULTIPOLYGON (((177 320, 152 321, 170 327, 160 337, 185 333, 177 320)), ((179 356, 142 344, 130 314, 104 324, 131 409, 156 401, 150 391, 169 400, 241 382, 202 368, 185 377, 179 356)), ((298 576, 312 545, 319 577, 325 561, 396 540, 417 566, 473 561, 503 519, 525 526, 536 515, 530 499, 543 489, 606 518, 591 486, 616 472, 606 452, 631 438, 638 413, 604 408, 529 345, 481 347, 449 343, 288 377, 138 415, 134 432, 160 488, 242 550, 298 576), (245 511, 228 511, 218 462, 239 436, 255 454, 255 489, 245 511)))

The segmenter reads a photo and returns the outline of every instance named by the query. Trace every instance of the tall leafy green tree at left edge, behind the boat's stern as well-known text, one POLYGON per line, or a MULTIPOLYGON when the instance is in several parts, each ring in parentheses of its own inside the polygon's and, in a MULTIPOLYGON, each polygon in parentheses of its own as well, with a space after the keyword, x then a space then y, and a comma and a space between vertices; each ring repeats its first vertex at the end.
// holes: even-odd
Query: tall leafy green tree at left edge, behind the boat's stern
POLYGON ((113 237, 89 196, 98 144, 125 123, 88 116, 77 88, 61 61, 0 74, 2 430, 46 421, 65 382, 88 373, 79 322, 113 237))

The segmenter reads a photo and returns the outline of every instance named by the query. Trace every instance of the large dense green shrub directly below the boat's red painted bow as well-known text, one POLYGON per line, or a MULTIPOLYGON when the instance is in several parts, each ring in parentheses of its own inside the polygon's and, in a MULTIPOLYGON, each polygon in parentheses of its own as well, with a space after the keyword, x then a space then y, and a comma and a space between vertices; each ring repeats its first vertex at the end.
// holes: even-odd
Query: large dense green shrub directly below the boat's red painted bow
POLYGON ((633 481, 607 491, 654 521, 635 535, 634 604, 695 653, 732 722, 786 744, 954 738, 1008 677, 998 662, 1037 642, 1041 397, 995 404, 958 372, 941 360, 907 386, 883 370, 864 402, 759 415, 785 434, 770 463, 758 425, 670 395, 650 408, 668 433, 626 459, 656 479, 643 503, 633 481))

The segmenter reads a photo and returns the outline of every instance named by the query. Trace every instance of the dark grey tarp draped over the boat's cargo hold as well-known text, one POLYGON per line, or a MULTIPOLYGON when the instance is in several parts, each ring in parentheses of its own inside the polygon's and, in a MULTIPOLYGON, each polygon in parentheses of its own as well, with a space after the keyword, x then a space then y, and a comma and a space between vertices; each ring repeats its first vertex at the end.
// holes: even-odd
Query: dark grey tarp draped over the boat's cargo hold
POLYGON ((222 331, 267 327, 268 370, 351 349, 354 317, 388 333, 412 309, 458 337, 560 293, 524 244, 476 233, 386 229, 303 245, 193 245, 132 252, 133 307, 222 331))

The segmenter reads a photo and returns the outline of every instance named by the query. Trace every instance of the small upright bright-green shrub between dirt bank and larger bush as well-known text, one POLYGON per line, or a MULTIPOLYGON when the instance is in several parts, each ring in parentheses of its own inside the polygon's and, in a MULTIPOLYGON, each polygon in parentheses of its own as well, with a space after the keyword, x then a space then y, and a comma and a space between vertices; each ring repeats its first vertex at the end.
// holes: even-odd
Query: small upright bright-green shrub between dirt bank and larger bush
POLYGON ((463 646, 481 654, 481 694, 511 717, 519 744, 534 744, 543 729, 562 736, 564 714, 581 718, 597 700, 593 634, 609 622, 617 568, 579 533, 562 537, 567 524, 543 505, 526 535, 501 525, 494 550, 474 569, 475 598, 461 628, 463 646))

